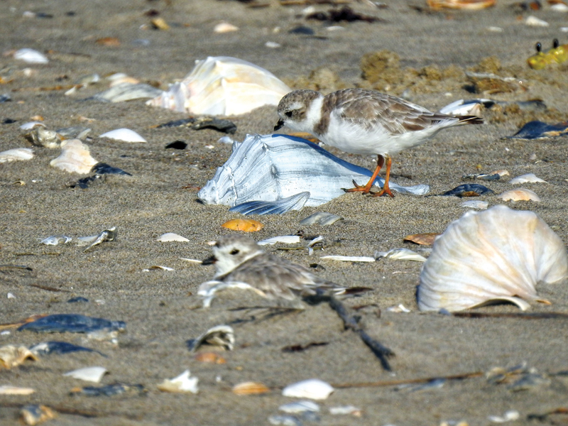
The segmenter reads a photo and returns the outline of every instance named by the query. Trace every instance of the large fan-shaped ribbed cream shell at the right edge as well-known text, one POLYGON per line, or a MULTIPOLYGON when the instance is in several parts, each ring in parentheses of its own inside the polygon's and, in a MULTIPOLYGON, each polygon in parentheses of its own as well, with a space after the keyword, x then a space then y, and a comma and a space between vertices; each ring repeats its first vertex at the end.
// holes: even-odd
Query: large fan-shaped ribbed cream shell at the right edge
POLYGON ((466 212, 436 239, 420 272, 418 306, 457 311, 506 300, 525 310, 525 300, 538 300, 537 283, 566 278, 559 236, 534 212, 498 205, 466 212))

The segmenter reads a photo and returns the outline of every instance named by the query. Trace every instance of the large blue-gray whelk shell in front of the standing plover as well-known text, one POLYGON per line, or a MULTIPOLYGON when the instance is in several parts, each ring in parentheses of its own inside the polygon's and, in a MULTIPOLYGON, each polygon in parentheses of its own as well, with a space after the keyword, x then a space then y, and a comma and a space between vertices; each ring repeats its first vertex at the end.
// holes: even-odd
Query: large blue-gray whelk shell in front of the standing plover
MULTIPOLYGON (((305 206, 315 207, 344 195, 352 181, 371 178, 370 170, 347 163, 315 143, 284 135, 247 135, 212 180, 197 193, 205 204, 234 207, 246 202, 278 202, 309 192, 305 206), (301 159, 300 161, 298 159, 301 159)), ((383 185, 383 179, 376 183, 383 185)), ((398 192, 425 195, 430 187, 401 187, 398 192)))

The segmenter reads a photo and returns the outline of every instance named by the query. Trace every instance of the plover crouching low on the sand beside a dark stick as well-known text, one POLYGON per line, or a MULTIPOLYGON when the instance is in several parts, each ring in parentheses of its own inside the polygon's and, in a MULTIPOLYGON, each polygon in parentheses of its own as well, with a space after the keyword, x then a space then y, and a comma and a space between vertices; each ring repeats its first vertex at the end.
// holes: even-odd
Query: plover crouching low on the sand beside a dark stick
POLYGON ((198 292, 206 300, 215 291, 228 287, 250 288, 268 299, 286 300, 326 291, 340 294, 345 290, 304 266, 266 253, 249 236, 239 234, 220 237, 213 246, 213 256, 202 264, 215 266, 213 280, 203 283, 198 292))

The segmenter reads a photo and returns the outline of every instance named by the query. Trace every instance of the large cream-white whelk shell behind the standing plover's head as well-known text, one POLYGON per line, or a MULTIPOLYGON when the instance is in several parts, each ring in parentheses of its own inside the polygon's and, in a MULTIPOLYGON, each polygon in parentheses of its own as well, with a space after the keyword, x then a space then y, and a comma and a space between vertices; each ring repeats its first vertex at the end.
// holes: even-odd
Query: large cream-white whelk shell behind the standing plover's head
POLYGON ((147 105, 196 115, 246 114, 278 105, 290 87, 271 72, 228 56, 195 61, 192 72, 147 105))

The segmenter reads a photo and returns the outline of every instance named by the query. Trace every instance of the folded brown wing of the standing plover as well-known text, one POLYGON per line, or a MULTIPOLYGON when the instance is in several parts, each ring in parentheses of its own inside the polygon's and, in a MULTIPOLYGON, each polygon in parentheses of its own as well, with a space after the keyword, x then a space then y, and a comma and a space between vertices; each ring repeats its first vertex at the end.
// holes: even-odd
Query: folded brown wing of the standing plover
POLYGON ((339 90, 328 94, 324 102, 329 106, 333 104, 346 121, 366 129, 382 126, 392 134, 419 131, 438 121, 454 118, 373 90, 339 90))

